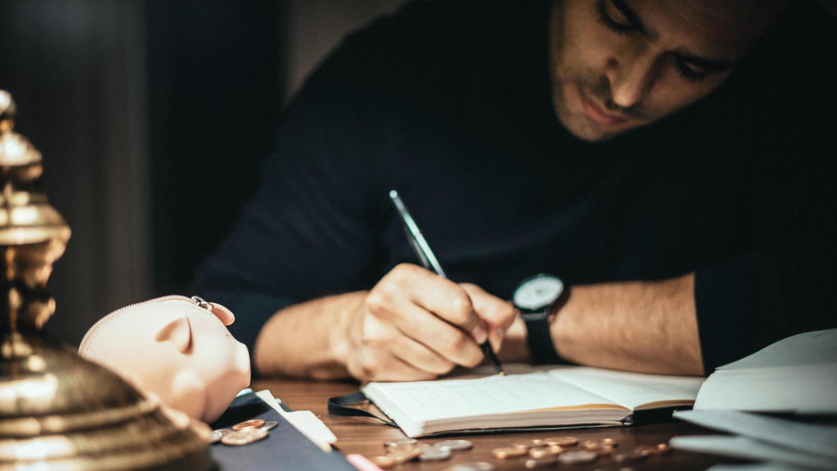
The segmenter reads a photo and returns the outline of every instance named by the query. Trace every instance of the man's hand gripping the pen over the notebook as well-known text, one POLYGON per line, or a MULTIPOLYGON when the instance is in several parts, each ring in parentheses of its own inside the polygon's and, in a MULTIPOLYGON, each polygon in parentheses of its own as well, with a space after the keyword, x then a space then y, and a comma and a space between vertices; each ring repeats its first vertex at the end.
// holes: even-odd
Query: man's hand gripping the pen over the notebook
POLYGON ((347 312, 347 331, 334 334, 348 342, 346 368, 357 379, 429 380, 478 365, 486 338, 499 350, 515 316, 511 303, 474 284, 400 264, 347 312))

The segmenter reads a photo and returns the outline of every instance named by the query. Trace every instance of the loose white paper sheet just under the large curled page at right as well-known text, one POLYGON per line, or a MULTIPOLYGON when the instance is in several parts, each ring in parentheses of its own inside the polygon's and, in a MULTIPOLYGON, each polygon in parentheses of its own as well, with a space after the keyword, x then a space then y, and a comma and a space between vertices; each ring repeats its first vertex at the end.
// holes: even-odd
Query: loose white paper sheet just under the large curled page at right
POLYGON ((837 427, 737 411, 678 411, 674 417, 702 427, 837 459, 837 427))

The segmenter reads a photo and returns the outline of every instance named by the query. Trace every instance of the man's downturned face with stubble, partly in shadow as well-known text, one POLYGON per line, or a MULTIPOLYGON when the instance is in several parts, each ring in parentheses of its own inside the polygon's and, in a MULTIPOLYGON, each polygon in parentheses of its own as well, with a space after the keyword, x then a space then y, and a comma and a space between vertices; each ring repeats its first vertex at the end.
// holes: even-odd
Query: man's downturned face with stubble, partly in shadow
POLYGON ((552 101, 568 131, 602 141, 715 90, 780 11, 752 0, 556 0, 552 101))

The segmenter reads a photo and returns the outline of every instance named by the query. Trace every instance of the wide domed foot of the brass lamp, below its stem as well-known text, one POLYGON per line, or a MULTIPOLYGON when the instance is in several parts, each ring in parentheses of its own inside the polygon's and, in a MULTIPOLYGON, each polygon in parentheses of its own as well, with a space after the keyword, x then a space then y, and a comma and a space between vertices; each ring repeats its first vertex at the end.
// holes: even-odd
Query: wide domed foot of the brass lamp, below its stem
POLYGON ((58 342, 0 344, 0 471, 212 467, 212 431, 58 342))

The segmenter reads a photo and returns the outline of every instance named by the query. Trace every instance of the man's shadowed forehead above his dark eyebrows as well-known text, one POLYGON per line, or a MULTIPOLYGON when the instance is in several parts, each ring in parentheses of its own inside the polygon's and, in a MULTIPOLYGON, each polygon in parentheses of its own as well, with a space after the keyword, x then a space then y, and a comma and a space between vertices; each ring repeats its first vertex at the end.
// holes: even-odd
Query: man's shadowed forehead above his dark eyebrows
POLYGON ((630 8, 655 39, 689 53, 737 59, 763 33, 777 0, 614 0, 630 8))

